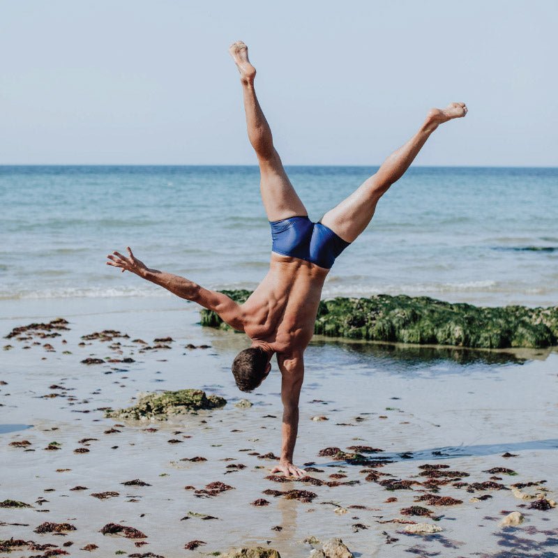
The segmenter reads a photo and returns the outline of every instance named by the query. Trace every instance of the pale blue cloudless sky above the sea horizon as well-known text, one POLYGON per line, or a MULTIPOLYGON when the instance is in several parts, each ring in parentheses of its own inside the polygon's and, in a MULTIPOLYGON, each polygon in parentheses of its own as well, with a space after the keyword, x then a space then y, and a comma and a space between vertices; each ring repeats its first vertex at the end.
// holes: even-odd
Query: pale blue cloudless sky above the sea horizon
POLYGON ((0 0, 0 164, 251 165, 244 40, 287 165, 558 166, 557 0, 0 0))

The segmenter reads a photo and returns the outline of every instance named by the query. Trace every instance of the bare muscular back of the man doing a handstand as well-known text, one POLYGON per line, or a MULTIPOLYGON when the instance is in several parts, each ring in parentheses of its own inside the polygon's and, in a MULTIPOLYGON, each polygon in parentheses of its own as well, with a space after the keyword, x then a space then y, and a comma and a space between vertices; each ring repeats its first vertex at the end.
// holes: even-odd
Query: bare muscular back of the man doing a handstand
POLYGON ((269 272, 242 306, 246 335, 268 343, 278 354, 305 349, 328 271, 272 253, 269 272))

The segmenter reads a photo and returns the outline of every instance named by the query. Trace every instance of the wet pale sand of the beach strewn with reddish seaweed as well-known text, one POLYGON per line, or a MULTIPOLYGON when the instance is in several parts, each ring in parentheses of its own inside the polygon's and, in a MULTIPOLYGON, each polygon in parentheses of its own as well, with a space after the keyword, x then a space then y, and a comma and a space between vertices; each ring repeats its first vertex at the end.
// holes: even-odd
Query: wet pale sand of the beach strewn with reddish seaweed
MULTIPOLYGON (((531 508, 533 501, 511 490, 514 483, 536 483, 520 490, 558 499, 557 352, 518 359, 316 339, 306 356, 296 464, 319 469, 308 472, 318 481, 280 483, 266 478, 274 460, 261 458, 280 449, 276 365, 261 390, 247 395, 254 405, 234 407, 245 394, 234 386, 229 366, 246 346, 243 335, 202 329, 195 306, 172 299, 18 301, 5 303, 2 315, 8 316, 0 321, 2 335, 59 315, 70 330, 44 340, 3 340, 13 349, 2 353, 0 372, 0 381, 7 382, 0 386, 0 502, 31 507, 0 508, 0 540, 13 536, 53 544, 72 556, 151 552, 172 558, 262 545, 283 558, 306 558, 312 547, 303 541, 311 536, 322 541, 340 536, 363 557, 558 552, 557 510, 531 508), (79 345, 82 335, 105 329, 129 338, 79 345), (145 346, 132 342, 140 338, 153 346, 156 338, 167 337, 174 341, 160 344, 170 349, 140 352, 145 346), (189 343, 209 348, 186 349, 189 343), (81 363, 106 357, 134 362, 81 363), (168 423, 115 421, 98 410, 126 407, 140 392, 183 388, 204 389, 228 403, 168 423), (312 421, 313 416, 329 420, 312 421), (10 445, 23 441, 29 445, 10 445), (45 449, 49 445, 58 449, 45 449), (364 464, 319 456, 331 447, 351 453, 351 446, 383 451, 362 452, 364 464), (506 452, 514 456, 502 457, 506 452), (517 474, 488 472, 494 467, 517 474), (122 484, 135 479, 149 485, 122 484), (389 490, 385 481, 399 480, 411 483, 403 483, 405 489, 391 484, 397 489, 389 490), (216 481, 233 489, 214 496, 196 493, 216 481), (439 481, 448 482, 436 486, 439 481), (487 481, 502 488, 474 484, 487 481), (71 490, 79 486, 84 489, 71 490), (269 490, 306 490, 315 497, 299 502, 263 493, 269 490), (112 495, 92 496, 105 492, 112 495), (418 500, 432 494, 462 503, 418 500), (269 504, 252 505, 259 499, 269 504), (426 508, 428 515, 401 513, 412 506, 426 508), (522 525, 500 527, 512 511, 525 516, 522 525), (75 530, 33 532, 44 522, 67 522, 75 530), (442 531, 407 534, 405 522, 427 522, 442 531), (109 523, 139 529, 146 537, 100 533, 109 523), (185 550, 190 541, 206 544, 185 550), (68 542, 73 544, 62 546, 68 542), (80 550, 86 545, 98 548, 80 550)), ((11 555, 42 556, 48 550, 23 547, 11 555)))

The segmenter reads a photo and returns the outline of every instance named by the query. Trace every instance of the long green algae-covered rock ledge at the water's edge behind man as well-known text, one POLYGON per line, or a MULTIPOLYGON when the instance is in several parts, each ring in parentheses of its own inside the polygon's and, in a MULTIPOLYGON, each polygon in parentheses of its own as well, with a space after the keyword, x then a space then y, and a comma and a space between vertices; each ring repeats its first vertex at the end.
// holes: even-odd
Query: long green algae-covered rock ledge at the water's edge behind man
MULTIPOLYGON (((238 303, 250 296, 246 289, 223 292, 238 303)), ((210 310, 202 310, 202 326, 230 329, 210 310)), ((338 297, 319 303, 314 333, 417 345, 538 349, 558 342, 558 306, 489 308, 405 294, 378 294, 369 299, 338 297)))

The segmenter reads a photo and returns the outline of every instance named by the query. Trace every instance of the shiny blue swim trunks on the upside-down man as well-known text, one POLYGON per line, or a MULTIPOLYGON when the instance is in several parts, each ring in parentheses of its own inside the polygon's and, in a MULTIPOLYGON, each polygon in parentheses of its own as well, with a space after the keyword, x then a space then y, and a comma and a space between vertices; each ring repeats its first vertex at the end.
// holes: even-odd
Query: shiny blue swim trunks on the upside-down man
POLYGON ((270 221, 269 225, 272 252, 305 259, 325 269, 330 269, 335 258, 350 244, 326 225, 312 223, 308 217, 289 217, 270 221))

